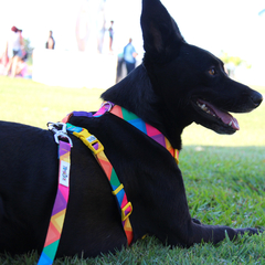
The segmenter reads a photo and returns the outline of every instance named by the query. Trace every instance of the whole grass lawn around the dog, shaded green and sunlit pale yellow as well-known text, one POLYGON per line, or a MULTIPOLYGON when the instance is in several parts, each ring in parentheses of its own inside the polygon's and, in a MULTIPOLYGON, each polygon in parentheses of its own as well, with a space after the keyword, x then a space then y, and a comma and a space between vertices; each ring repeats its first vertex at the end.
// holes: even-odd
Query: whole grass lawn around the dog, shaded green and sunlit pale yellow
MULTIPOLYGON (((264 87, 255 87, 265 95, 264 87)), ((100 89, 49 87, 0 77, 0 119, 45 128, 72 110, 96 110, 100 89)), ((180 168, 193 218, 205 224, 265 227, 265 104, 235 115, 241 130, 220 136, 198 125, 184 130, 180 168)), ((158 213, 159 214, 159 213, 158 213)), ((146 237, 116 254, 62 258, 55 264, 265 264, 265 235, 227 239, 218 246, 163 246, 146 237)), ((0 264, 35 264, 35 252, 0 255, 0 264)))

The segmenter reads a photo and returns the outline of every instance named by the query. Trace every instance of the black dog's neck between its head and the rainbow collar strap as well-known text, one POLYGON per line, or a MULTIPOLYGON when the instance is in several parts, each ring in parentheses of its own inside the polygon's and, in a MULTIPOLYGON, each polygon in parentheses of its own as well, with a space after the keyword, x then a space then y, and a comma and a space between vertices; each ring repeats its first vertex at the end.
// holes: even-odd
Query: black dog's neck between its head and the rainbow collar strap
POLYGON ((103 93, 102 98, 136 114, 144 121, 160 130, 173 148, 181 149, 181 134, 188 125, 181 124, 178 116, 170 117, 170 112, 155 94, 147 71, 142 65, 139 65, 126 78, 103 93), (171 120, 174 120, 173 124, 171 120))

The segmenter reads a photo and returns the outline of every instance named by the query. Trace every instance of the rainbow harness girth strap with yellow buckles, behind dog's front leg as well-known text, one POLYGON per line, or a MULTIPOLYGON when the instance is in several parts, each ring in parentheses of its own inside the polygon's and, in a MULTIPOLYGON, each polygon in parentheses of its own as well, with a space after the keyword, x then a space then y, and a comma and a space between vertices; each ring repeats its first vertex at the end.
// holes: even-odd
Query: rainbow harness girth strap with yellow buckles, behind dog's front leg
POLYGON ((117 204, 121 216, 121 224, 127 237, 128 245, 130 245, 134 237, 131 224, 129 221, 129 215, 131 214, 132 205, 130 202, 128 202, 127 195, 124 190, 124 186, 119 182, 115 169, 113 168, 112 163, 106 157, 103 145, 94 135, 91 135, 86 129, 76 127, 71 124, 66 124, 66 126, 67 131, 80 138, 92 150, 98 163, 106 173, 106 177, 113 189, 112 193, 117 199, 117 204))

